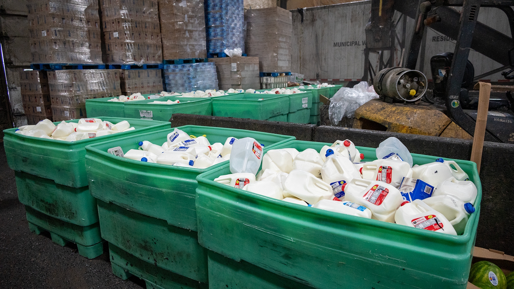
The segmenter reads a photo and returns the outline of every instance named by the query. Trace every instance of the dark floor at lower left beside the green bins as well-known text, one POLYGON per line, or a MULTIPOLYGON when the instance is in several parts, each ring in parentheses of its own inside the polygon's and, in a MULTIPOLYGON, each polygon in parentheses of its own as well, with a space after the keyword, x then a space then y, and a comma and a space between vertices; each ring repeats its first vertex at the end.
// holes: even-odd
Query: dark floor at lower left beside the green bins
POLYGON ((111 272, 109 251, 93 260, 79 255, 75 244, 61 247, 49 234, 29 231, 25 206, 18 200, 14 171, 0 143, 0 288, 89 289, 145 288, 144 281, 121 280, 111 272))

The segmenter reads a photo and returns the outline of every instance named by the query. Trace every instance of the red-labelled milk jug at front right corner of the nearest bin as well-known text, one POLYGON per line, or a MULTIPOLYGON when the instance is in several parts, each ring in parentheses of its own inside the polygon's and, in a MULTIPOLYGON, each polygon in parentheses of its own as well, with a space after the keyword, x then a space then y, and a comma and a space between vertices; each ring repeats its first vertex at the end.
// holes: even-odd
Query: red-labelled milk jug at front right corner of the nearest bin
POLYGON ((400 225, 457 235, 450 221, 443 214, 419 199, 399 207, 394 219, 400 225))

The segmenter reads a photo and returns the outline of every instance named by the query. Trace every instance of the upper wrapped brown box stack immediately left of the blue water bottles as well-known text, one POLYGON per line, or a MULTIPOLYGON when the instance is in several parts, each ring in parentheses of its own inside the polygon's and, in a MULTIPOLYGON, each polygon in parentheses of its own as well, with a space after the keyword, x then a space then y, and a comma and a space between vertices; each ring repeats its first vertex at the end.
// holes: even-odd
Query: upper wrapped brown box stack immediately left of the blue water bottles
POLYGON ((163 59, 207 57, 204 0, 159 0, 163 59))

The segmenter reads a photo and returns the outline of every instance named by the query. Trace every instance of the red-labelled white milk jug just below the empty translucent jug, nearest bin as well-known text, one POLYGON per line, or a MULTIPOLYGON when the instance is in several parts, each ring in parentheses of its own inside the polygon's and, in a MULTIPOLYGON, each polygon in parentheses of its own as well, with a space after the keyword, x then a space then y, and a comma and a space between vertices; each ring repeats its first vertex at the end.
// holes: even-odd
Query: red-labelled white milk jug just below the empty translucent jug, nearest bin
POLYGON ((407 162, 378 159, 363 164, 361 174, 362 179, 382 181, 399 187, 403 177, 412 177, 412 169, 407 162))

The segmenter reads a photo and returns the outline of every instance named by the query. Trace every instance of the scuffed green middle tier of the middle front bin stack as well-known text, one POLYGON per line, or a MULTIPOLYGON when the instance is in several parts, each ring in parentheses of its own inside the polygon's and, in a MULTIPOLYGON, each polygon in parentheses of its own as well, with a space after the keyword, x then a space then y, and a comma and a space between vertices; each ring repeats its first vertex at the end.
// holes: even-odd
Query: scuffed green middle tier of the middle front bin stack
POLYGON ((102 238, 167 271, 207 283, 207 249, 194 231, 98 201, 102 238))

